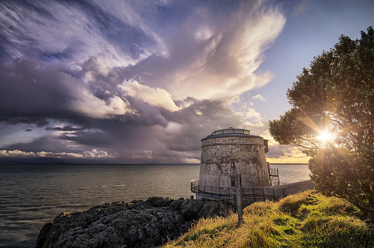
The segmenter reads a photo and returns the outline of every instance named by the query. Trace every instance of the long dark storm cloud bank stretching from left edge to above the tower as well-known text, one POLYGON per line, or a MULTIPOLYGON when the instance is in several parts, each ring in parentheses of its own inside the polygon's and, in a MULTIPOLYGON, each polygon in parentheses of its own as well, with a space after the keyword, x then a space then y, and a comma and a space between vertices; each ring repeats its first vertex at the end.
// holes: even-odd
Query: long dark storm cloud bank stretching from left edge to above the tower
POLYGON ((129 95, 124 98, 126 92, 117 87, 120 76, 102 59, 91 57, 79 71, 25 59, 14 64, 5 63, 7 66, 3 68, 6 70, 0 69, 0 73, 9 83, 4 85, 9 95, 0 99, 3 121, 61 131, 55 137, 69 143, 59 143, 56 139, 47 139, 49 142, 46 143, 45 138, 40 138, 4 149, 35 153, 36 147, 54 152, 55 147, 62 151, 65 146, 65 152, 82 153, 95 147, 123 154, 124 159, 153 156, 161 161, 165 156, 175 161, 178 157, 197 161, 200 139, 216 129, 237 126, 240 122, 230 107, 232 98, 199 100, 187 97, 175 101, 185 105, 176 112, 150 106, 129 95), (119 110, 110 103, 113 97, 118 97, 119 103, 128 103, 125 106, 128 112, 115 114, 119 110), (79 102, 85 103, 83 110, 77 107, 79 102), (59 123, 55 123, 56 120, 59 123), (147 154, 147 151, 152 153, 147 154), (132 152, 144 155, 137 157, 132 152))

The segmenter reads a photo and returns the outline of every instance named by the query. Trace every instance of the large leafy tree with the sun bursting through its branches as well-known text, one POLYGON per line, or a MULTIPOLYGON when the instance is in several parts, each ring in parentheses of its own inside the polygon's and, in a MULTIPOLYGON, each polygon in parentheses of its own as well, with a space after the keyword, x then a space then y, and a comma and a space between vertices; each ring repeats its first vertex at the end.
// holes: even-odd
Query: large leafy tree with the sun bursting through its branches
POLYGON ((311 179, 325 195, 374 217, 374 30, 360 40, 341 35, 297 76, 291 110, 269 121, 283 145, 305 148, 311 179))

